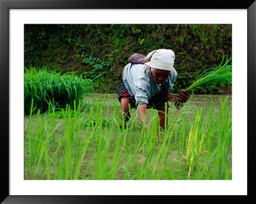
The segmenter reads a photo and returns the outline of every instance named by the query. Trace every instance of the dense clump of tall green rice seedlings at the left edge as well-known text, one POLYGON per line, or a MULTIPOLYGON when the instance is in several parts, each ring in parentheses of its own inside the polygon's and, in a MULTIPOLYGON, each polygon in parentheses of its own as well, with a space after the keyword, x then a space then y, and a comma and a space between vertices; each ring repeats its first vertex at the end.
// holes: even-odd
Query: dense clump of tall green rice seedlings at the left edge
POLYGON ((50 72, 47 68, 25 68, 24 74, 24 112, 29 114, 31 102, 35 111, 45 112, 52 104, 57 109, 72 105, 74 100, 93 91, 92 81, 77 76, 74 72, 62 74, 50 72))

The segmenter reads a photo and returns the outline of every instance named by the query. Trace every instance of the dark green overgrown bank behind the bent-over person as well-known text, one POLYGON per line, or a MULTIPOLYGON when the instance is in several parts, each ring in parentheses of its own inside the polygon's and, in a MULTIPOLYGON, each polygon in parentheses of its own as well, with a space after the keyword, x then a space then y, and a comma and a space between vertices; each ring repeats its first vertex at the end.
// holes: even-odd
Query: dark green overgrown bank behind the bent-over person
MULTIPOLYGON (((172 93, 177 93, 189 87, 205 70, 220 65, 222 56, 232 56, 232 25, 25 25, 25 67, 47 65, 62 72, 100 75, 93 81, 95 91, 108 89, 116 93, 129 56, 135 52, 146 56, 155 49, 175 52, 178 75, 172 93), (85 59, 92 59, 95 64, 90 65, 85 59), (95 65, 101 66, 100 72, 95 72, 95 65)), ((218 87, 213 91, 221 90, 218 87)))

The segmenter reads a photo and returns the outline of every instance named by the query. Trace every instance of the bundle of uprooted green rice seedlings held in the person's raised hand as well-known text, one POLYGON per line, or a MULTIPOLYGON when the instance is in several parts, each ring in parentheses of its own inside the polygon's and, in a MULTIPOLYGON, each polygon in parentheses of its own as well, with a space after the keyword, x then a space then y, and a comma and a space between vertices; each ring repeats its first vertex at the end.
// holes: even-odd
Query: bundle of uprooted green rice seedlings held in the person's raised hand
MULTIPOLYGON (((195 90, 212 90, 220 85, 228 85, 231 88, 232 84, 232 65, 229 65, 231 58, 227 58, 223 64, 224 58, 220 65, 216 68, 205 70, 191 86, 186 88, 190 94, 195 90)), ((177 109, 183 106, 183 102, 179 101, 177 95, 173 94, 171 102, 177 109)))

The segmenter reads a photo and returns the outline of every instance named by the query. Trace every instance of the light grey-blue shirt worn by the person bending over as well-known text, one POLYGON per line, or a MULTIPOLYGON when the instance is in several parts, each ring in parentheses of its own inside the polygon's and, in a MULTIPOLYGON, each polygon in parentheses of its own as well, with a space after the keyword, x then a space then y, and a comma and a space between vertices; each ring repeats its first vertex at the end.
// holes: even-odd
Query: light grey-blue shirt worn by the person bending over
POLYGON ((148 104, 148 101, 160 91, 168 92, 172 89, 173 83, 176 81, 177 72, 173 68, 166 81, 159 86, 154 82, 152 74, 149 72, 150 63, 147 65, 131 64, 125 66, 123 81, 131 97, 138 104, 148 104))

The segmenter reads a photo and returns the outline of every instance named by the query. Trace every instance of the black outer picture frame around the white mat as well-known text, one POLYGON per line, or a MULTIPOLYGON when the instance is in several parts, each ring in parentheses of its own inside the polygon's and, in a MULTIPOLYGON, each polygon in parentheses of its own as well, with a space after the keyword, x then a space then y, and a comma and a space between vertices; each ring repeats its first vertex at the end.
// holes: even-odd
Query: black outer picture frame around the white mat
MULTIPOLYGON (((1 190, 3 203, 155 203, 163 201, 188 203, 256 203, 255 201, 255 67, 256 67, 256 2, 250 1, 104 1, 104 0, 0 0, 0 116, 1 116, 1 190), (247 139, 248 139, 248 194, 247 196, 15 196, 9 184, 9 10, 10 9, 246 9, 248 13, 247 64, 247 139)), ((246 130, 244 130, 246 132, 246 130)))

